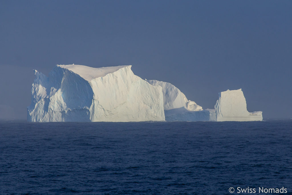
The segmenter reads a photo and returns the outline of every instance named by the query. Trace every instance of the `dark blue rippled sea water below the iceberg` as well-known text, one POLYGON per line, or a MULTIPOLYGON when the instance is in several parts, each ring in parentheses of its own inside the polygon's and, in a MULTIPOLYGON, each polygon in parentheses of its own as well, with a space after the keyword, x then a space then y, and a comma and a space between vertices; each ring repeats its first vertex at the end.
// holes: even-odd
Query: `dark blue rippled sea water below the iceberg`
POLYGON ((0 194, 231 194, 230 187, 292 194, 292 120, 0 122, 0 194))

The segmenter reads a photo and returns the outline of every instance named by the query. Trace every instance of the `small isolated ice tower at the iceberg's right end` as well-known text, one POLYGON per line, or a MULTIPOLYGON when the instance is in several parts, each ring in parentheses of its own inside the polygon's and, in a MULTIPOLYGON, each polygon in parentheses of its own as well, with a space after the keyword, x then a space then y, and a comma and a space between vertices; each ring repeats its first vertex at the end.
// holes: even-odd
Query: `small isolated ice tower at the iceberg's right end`
POLYGON ((248 112, 246 100, 241 89, 219 93, 215 104, 216 121, 263 120, 262 112, 248 112))

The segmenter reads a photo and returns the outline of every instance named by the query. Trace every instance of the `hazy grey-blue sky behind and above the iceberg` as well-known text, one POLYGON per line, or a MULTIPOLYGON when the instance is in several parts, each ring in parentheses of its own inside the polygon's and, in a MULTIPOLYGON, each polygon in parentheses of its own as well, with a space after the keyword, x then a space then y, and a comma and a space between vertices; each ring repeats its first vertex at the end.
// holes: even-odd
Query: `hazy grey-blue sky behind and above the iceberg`
POLYGON ((292 118, 292 1, 0 3, 0 118, 26 119, 33 69, 132 65, 214 108, 242 89, 248 111, 292 118))

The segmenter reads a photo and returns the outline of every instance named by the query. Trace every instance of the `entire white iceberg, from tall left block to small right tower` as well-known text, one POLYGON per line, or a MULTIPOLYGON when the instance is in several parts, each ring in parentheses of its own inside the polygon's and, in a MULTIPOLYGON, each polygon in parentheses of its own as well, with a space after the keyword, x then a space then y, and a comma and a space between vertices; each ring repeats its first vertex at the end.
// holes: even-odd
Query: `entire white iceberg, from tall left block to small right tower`
POLYGON ((131 65, 91 68, 56 65, 48 77, 34 70, 27 120, 50 121, 250 121, 241 89, 219 93, 215 109, 203 110, 173 84, 142 80, 131 65))

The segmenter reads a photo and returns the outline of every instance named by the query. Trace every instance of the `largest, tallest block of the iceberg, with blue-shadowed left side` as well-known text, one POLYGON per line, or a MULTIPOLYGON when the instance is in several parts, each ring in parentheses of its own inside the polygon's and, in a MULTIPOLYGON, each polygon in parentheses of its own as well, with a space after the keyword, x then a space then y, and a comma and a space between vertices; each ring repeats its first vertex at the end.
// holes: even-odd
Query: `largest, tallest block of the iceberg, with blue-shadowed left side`
POLYGON ((56 65, 48 77, 34 74, 28 121, 165 120, 161 87, 134 75, 131 65, 56 65))

